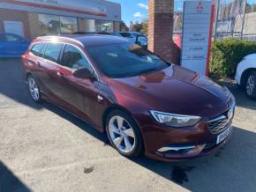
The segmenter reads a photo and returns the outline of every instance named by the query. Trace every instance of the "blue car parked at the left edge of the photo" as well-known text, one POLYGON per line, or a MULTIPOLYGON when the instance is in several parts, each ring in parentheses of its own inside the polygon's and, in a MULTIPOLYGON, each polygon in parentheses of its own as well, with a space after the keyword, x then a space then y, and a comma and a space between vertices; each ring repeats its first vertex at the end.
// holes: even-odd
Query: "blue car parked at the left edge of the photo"
POLYGON ((0 34, 0 57, 19 57, 30 45, 30 41, 12 33, 0 34))

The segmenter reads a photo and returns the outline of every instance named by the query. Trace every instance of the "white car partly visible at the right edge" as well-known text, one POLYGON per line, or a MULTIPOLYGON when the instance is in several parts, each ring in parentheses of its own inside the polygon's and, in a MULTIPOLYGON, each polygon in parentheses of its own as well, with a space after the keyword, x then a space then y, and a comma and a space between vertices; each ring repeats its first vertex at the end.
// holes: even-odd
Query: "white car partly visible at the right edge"
POLYGON ((246 55, 237 65, 237 85, 245 88, 249 98, 256 99, 256 54, 246 55))

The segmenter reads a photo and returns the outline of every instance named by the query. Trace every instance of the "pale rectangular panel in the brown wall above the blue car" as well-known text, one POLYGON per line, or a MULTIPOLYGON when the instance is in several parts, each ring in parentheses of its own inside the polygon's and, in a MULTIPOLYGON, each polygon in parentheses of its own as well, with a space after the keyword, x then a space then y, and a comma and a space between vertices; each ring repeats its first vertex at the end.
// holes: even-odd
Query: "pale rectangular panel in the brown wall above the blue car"
POLYGON ((22 22, 4 20, 4 32, 17 34, 24 37, 24 28, 22 22))

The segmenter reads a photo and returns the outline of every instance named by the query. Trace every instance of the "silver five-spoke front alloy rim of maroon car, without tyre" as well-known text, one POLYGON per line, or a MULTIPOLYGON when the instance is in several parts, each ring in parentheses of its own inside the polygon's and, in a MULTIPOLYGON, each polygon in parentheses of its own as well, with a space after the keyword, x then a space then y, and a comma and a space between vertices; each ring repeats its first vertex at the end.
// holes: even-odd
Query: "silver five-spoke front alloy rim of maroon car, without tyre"
POLYGON ((124 154, 131 153, 136 145, 134 129, 122 116, 112 116, 109 120, 109 137, 117 150, 124 154))

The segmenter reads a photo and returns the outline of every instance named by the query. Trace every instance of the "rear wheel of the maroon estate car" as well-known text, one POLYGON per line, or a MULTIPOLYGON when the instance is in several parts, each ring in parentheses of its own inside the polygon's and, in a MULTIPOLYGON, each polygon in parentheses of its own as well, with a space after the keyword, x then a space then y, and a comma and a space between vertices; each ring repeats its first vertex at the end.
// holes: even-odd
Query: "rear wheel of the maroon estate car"
POLYGON ((40 103, 41 102, 41 90, 39 85, 36 83, 35 78, 32 75, 29 75, 27 78, 27 86, 28 91, 30 92, 30 97, 34 102, 40 103))

